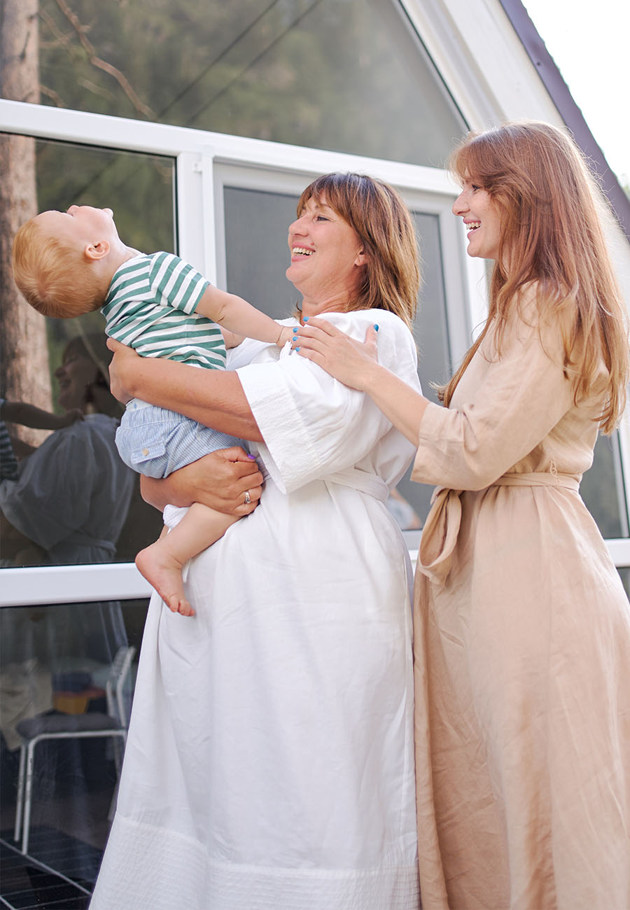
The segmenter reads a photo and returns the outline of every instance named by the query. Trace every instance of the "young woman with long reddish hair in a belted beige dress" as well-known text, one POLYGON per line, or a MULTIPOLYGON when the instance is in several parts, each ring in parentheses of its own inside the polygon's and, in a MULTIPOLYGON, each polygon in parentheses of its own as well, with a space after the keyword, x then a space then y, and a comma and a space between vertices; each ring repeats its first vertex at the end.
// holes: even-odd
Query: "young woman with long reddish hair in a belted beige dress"
POLYGON ((628 340, 573 142, 512 123, 452 157, 490 310, 446 407, 310 320, 300 356, 367 392, 438 485, 415 590, 423 910, 630 906, 630 621, 578 486, 625 405, 628 340))

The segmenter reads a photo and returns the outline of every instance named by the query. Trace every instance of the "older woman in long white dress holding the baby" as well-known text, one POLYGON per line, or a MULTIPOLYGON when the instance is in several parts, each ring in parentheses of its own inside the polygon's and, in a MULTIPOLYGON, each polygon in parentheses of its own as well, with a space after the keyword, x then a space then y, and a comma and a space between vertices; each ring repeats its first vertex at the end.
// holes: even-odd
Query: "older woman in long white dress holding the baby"
MULTIPOLYGON (((378 323, 381 358, 418 389, 415 239, 391 187, 319 178, 289 246, 302 318, 326 313, 356 338, 378 323)), ((307 360, 241 347, 255 362, 212 376, 117 349, 121 397, 252 440, 265 488, 191 563, 196 618, 151 602, 92 910, 412 910, 409 572, 384 504, 412 445, 307 360)), ((147 496, 189 504, 204 467, 147 496)))

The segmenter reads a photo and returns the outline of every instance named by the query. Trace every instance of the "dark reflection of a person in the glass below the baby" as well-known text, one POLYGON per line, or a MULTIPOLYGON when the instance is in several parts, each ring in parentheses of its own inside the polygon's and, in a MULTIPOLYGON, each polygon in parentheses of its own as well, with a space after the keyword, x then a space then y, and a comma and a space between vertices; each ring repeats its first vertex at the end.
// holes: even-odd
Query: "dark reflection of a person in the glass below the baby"
MULTIPOLYGON (((55 373, 57 401, 73 422, 20 462, 16 480, 0 483, 4 541, 14 556, 9 564, 17 564, 15 557, 48 565, 115 557, 134 473, 114 442, 121 410, 108 387, 110 357, 100 334, 66 346, 55 373), (76 410, 81 420, 74 420, 76 410)), ((19 745, 15 723, 53 707, 52 674, 97 670, 127 644, 119 602, 5 610, 0 622, 2 731, 10 748, 19 745)))

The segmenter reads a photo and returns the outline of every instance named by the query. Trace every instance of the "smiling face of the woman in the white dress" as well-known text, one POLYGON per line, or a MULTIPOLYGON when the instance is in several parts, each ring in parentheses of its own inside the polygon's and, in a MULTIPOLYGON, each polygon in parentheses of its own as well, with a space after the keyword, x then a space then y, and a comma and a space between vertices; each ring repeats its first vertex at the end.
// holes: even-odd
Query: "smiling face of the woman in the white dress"
POLYGON ((361 283, 361 238, 324 198, 310 197, 289 227, 287 278, 304 298, 305 312, 343 309, 361 283))

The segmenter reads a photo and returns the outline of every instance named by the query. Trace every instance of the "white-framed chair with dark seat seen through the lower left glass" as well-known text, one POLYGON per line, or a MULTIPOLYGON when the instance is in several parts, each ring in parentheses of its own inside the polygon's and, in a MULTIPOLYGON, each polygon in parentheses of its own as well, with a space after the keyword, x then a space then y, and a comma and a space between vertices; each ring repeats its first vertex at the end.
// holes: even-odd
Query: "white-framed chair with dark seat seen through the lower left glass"
POLYGON ((133 647, 122 647, 112 662, 106 683, 107 713, 43 714, 17 724, 22 744, 17 778, 14 839, 16 842, 19 841, 22 834, 23 854, 28 850, 37 743, 43 740, 97 737, 112 739, 117 773, 120 773, 122 747, 127 740, 128 725, 125 686, 135 652, 136 649, 133 647))

